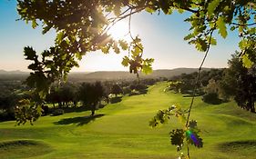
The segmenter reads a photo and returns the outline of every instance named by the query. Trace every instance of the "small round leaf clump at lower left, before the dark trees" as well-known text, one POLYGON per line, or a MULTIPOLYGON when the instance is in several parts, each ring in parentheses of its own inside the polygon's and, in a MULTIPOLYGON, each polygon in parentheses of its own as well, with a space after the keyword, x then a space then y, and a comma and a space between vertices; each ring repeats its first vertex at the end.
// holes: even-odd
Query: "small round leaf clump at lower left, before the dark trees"
POLYGON ((43 109, 28 99, 23 99, 15 106, 16 124, 26 124, 27 121, 33 124, 42 114, 43 109))

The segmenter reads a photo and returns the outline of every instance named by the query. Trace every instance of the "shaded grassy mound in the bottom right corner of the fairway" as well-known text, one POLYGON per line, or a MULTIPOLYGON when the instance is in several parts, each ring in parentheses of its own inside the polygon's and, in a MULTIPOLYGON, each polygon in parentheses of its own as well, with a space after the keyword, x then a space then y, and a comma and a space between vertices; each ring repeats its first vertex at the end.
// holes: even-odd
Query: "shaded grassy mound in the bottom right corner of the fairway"
POLYGON ((220 151, 222 153, 231 154, 255 154, 256 153, 256 140, 248 141, 234 141, 228 143, 219 144, 220 151))

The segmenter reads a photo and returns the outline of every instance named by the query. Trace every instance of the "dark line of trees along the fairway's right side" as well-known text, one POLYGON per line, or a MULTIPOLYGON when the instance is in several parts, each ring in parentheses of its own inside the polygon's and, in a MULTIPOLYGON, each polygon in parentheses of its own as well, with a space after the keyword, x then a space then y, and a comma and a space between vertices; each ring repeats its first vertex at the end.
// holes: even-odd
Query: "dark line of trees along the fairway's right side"
MULTIPOLYGON (((234 99, 243 109, 255 113, 256 65, 247 68, 239 53, 232 55, 229 67, 202 71, 197 94, 210 104, 220 104, 234 99)), ((169 89, 176 93, 191 94, 195 85, 196 73, 172 77, 169 89)))

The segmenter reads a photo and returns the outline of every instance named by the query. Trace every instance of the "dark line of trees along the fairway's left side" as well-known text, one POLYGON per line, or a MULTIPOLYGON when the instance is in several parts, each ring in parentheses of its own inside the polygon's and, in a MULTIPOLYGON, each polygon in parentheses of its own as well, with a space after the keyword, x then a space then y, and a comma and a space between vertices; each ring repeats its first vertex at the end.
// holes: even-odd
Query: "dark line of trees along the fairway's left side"
MULTIPOLYGON (((89 110, 94 115, 98 108, 108 102, 121 100, 122 95, 147 93, 148 85, 160 79, 141 79, 134 81, 103 81, 90 83, 53 84, 42 105, 43 115, 63 114, 75 109, 89 110), (114 94, 114 95, 110 95, 114 94), (52 105, 52 106, 51 106, 52 105)), ((15 119, 15 106, 22 99, 41 100, 38 94, 32 94, 30 88, 20 82, 2 83, 0 93, 0 120, 15 119), (13 84, 12 84, 13 83, 13 84)))

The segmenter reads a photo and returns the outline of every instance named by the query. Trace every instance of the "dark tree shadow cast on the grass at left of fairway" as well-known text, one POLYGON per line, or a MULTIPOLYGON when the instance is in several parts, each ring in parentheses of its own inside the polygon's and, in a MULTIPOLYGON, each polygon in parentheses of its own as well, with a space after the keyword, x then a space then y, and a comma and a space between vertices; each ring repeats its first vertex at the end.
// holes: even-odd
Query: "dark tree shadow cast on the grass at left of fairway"
POLYGON ((93 116, 79 116, 79 117, 71 117, 66 119, 61 119, 54 124, 77 124, 77 126, 82 126, 84 124, 88 124, 93 122, 95 119, 104 116, 105 114, 95 114, 93 116))

